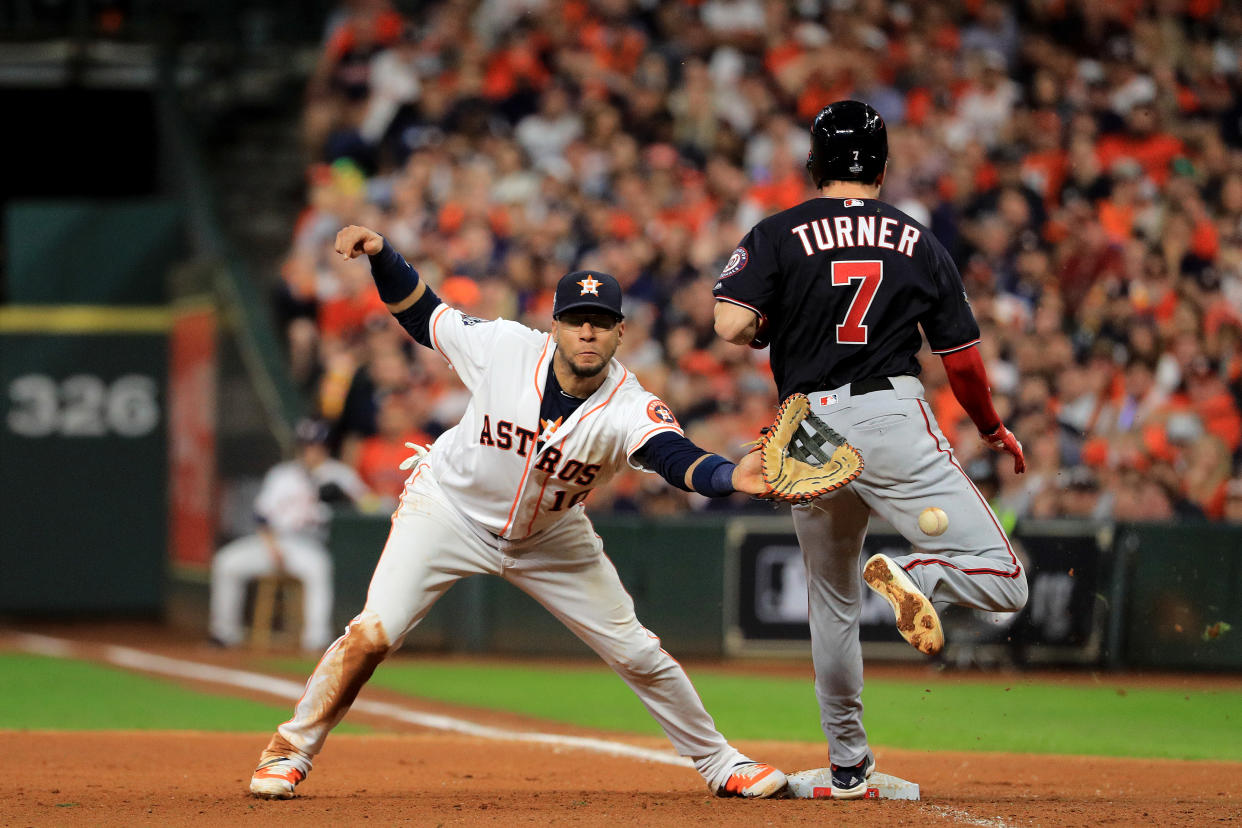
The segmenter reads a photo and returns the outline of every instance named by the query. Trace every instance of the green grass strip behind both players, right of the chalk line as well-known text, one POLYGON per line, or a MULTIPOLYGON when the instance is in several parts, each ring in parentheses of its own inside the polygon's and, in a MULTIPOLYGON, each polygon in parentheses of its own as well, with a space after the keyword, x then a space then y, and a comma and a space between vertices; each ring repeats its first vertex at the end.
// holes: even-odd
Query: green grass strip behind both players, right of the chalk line
MULTIPOLYGON (((301 673, 313 664, 278 662, 301 673)), ((691 670, 722 732, 733 740, 818 742, 810 678, 691 670)), ((637 698, 606 668, 545 669, 394 660, 371 684, 411 696, 504 710, 620 732, 660 729, 637 698)), ((1081 682, 1015 677, 872 679, 863 693, 876 745, 913 750, 985 750, 1095 756, 1242 761, 1242 693, 1084 686, 1081 682)))

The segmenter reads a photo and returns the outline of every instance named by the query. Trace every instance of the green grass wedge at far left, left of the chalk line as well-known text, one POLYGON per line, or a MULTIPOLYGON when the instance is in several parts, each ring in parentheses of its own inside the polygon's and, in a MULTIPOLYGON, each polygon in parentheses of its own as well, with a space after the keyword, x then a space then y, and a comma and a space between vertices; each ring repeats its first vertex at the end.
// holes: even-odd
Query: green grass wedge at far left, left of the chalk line
POLYGON ((87 662, 0 653, 0 729, 6 730, 267 732, 291 710, 292 704, 197 693, 87 662))

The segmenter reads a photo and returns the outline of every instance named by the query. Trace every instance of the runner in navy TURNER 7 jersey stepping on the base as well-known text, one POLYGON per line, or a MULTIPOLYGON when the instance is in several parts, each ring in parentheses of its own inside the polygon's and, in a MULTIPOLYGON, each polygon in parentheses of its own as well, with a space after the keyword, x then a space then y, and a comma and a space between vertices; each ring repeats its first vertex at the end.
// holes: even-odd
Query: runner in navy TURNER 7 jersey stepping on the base
POLYGON ((1022 446, 992 406, 956 266, 925 227, 877 200, 887 160, 874 109, 857 101, 826 107, 807 158, 820 197, 755 225, 714 288, 717 333, 769 345, 780 398, 807 395, 866 462, 851 485, 792 509, 832 794, 842 798, 863 796, 874 768, 862 725, 863 582, 888 600, 902 636, 924 653, 944 643, 934 603, 1016 612, 1027 596, 1009 538, 924 401, 923 335, 982 439, 1011 454, 1018 473, 1022 446), (859 565, 873 511, 915 551, 859 565))

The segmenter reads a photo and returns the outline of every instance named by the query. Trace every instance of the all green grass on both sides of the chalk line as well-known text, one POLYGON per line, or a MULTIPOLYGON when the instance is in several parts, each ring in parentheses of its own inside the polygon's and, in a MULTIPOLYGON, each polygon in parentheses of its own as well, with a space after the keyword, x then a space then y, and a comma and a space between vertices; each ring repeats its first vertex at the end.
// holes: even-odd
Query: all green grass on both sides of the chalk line
MULTIPOLYGON (((304 677, 313 662, 271 669, 304 677)), ((733 740, 822 742, 810 677, 692 669, 717 725, 733 740)), ((637 698, 602 667, 394 659, 371 679, 412 698, 524 714, 596 730, 658 735, 637 698)), ((287 704, 200 693, 171 680, 86 662, 0 653, 0 729, 266 732, 287 704)), ((876 745, 913 750, 1216 758, 1242 761, 1242 693, 1015 677, 1006 686, 966 675, 872 679, 863 694, 876 745)), ((354 732, 366 729, 343 725, 354 732)))

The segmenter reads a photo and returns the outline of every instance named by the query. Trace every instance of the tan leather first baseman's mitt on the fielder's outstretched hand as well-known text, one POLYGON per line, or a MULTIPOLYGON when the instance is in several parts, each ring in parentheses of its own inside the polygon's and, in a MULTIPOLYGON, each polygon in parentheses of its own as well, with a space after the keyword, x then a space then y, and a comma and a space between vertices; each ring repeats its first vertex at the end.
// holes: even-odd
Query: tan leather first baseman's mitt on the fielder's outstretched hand
POLYGON ((795 394, 776 412, 759 439, 766 497, 804 503, 848 485, 862 474, 862 454, 811 412, 805 394, 795 394))

